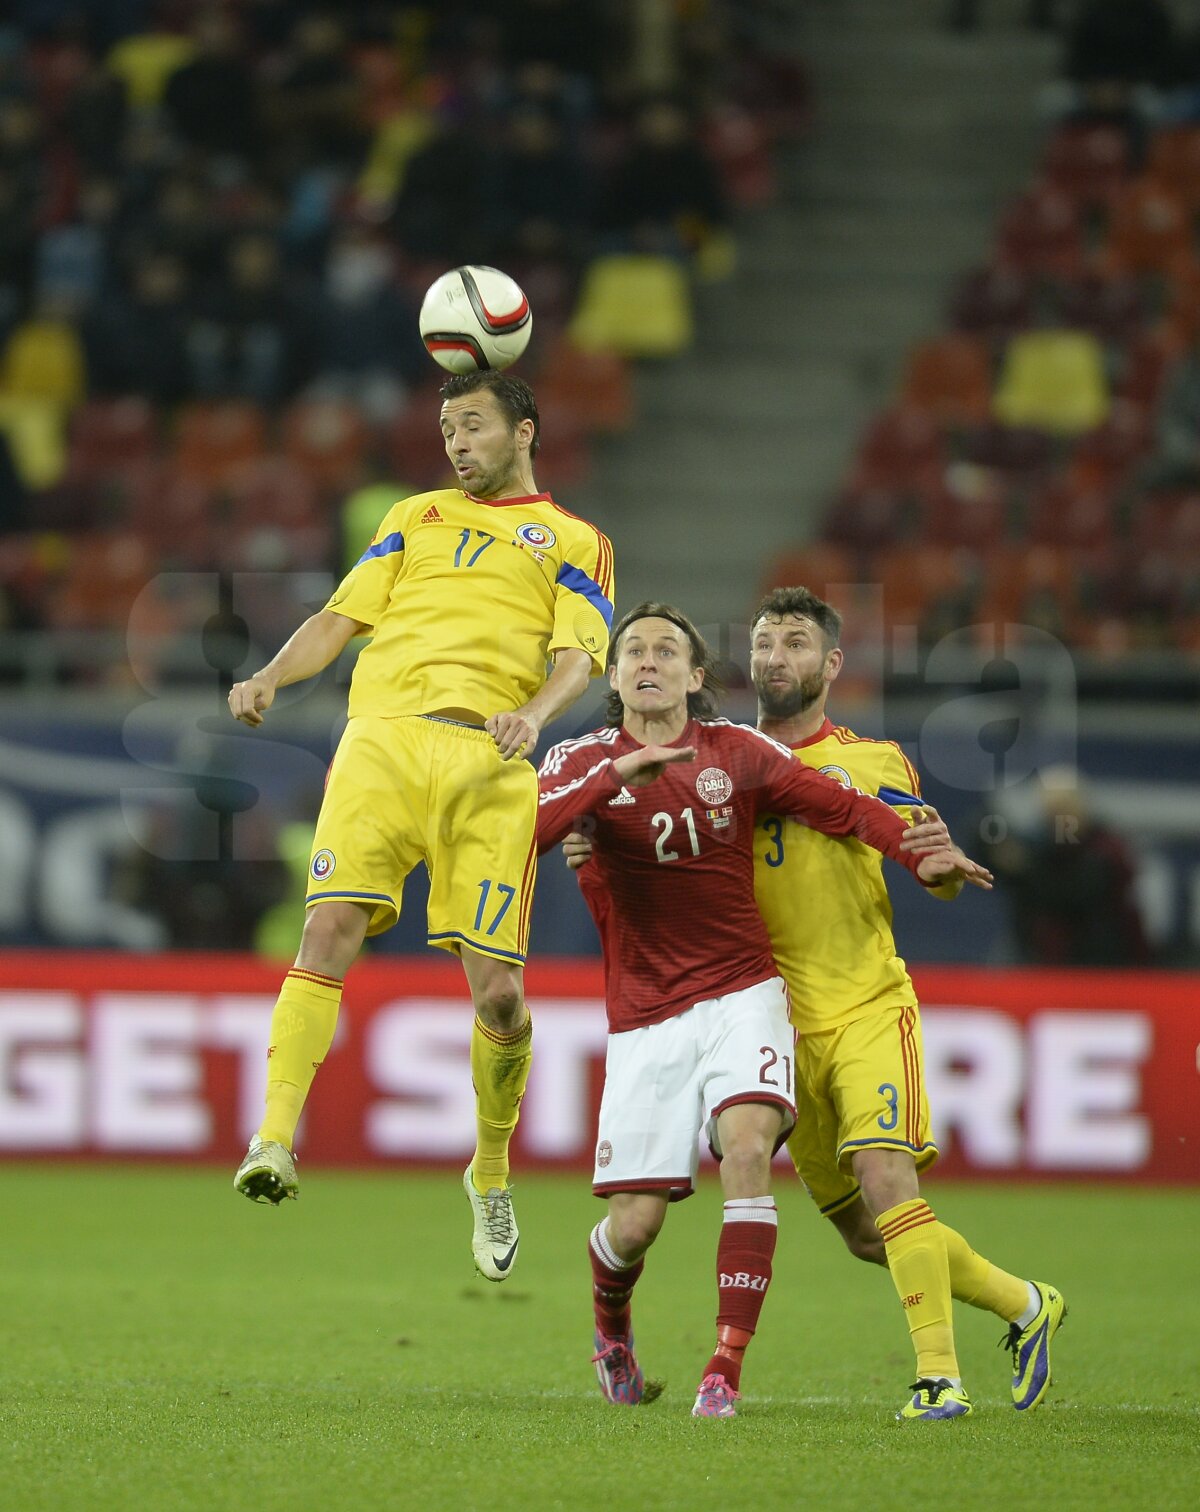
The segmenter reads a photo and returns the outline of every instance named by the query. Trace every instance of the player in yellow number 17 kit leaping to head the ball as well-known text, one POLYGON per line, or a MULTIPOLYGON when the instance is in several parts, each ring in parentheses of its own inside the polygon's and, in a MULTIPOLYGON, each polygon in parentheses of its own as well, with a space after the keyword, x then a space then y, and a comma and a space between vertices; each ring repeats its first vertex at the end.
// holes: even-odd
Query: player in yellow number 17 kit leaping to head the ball
POLYGON ((472 1247, 481 1275, 505 1281, 518 1240, 508 1146, 532 1046, 523 963, 538 777, 523 758, 605 670, 612 546, 538 493, 526 383, 470 373, 441 396, 461 487, 396 503, 325 608, 230 691, 234 718, 258 726, 280 688, 370 637, 316 824, 299 954, 272 1015, 266 1116, 234 1187, 257 1202, 298 1194, 292 1145, 343 978, 364 936, 396 922, 423 860, 429 943, 461 959, 475 1002, 472 1247))

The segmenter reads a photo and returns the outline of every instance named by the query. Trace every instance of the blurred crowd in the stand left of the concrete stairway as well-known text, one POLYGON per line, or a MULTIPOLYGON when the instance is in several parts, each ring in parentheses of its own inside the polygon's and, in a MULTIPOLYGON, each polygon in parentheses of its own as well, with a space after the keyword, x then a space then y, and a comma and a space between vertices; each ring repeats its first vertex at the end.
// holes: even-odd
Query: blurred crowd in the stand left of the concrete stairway
POLYGON ((629 422, 627 360, 686 345, 691 280, 804 124, 780 15, 12 0, 0 627, 122 631, 136 605, 186 632, 207 608, 144 593, 156 573, 340 572, 346 497, 361 549, 381 488, 444 476, 416 311, 461 262, 530 296, 540 481, 568 485, 588 434, 629 422))

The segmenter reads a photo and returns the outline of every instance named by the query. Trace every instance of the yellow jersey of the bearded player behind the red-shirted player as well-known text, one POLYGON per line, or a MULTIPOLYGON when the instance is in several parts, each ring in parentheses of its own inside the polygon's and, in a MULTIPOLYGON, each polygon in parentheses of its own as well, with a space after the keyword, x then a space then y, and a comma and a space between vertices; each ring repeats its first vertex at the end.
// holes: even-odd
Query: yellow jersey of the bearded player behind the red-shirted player
MULTIPOLYGON (((863 739, 830 720, 793 754, 863 792, 920 797, 917 774, 899 745, 863 739)), ((904 804, 896 809, 905 818, 911 813, 904 804)), ((878 851, 861 841, 818 835, 795 820, 760 816, 754 892, 801 1034, 916 1001, 892 937, 878 851)))

